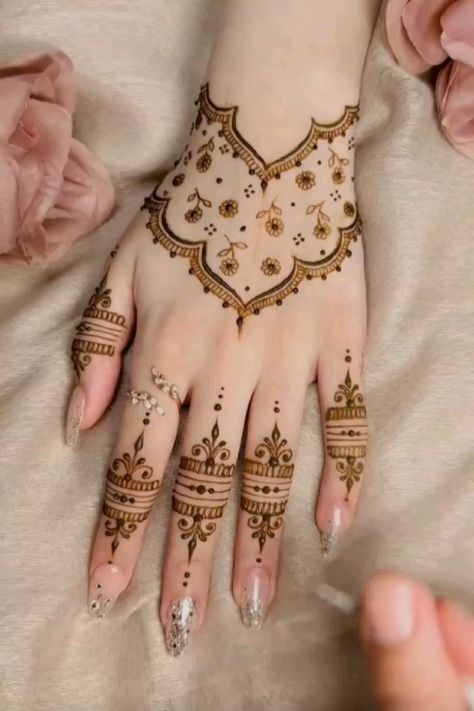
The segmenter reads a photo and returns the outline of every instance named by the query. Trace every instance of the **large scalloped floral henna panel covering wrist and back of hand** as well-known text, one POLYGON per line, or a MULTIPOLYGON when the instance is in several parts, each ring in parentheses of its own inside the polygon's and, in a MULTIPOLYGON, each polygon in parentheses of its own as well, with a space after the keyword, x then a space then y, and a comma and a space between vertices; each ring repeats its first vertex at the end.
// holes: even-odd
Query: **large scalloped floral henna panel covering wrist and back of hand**
POLYGON ((344 260, 351 256, 351 243, 361 233, 352 180, 347 179, 349 170, 352 172, 350 150, 354 145, 349 134, 358 118, 358 107, 346 107, 342 117, 330 125, 313 119, 308 134, 294 150, 267 163, 238 130, 238 107, 216 106, 208 85, 202 88, 197 104, 192 129, 196 155, 193 157, 186 146, 175 171, 145 200, 144 208, 150 213, 147 227, 155 244, 172 256, 189 260, 189 273, 205 293, 214 294, 223 307, 237 311, 240 327, 246 317, 280 306, 286 297, 297 294, 303 280, 324 280, 341 271, 344 260), (223 171, 222 164, 228 168, 229 161, 230 171, 223 171), (229 172, 234 194, 226 186, 229 172), (197 186, 190 194, 189 184, 197 186), (337 186, 337 195, 335 189, 330 193, 330 184, 337 186), (211 202, 203 195, 215 199, 211 202), (187 202, 193 206, 187 209, 187 202), (213 222, 203 236, 186 222, 199 222, 205 210, 209 217, 213 210, 213 222), (251 248, 239 258, 234 253, 223 257, 219 247, 222 235, 235 247, 239 244, 237 232, 247 228, 259 240, 255 248, 249 244, 251 248), (266 243, 262 242, 264 237, 266 243), (326 250, 319 249, 319 240, 325 240, 326 250), (270 254, 260 251, 266 244, 269 249, 271 244, 270 254), (269 261, 273 267, 265 269, 263 265, 269 261), (244 267, 241 272, 240 265, 244 267), (266 277, 263 290, 262 272, 266 277))

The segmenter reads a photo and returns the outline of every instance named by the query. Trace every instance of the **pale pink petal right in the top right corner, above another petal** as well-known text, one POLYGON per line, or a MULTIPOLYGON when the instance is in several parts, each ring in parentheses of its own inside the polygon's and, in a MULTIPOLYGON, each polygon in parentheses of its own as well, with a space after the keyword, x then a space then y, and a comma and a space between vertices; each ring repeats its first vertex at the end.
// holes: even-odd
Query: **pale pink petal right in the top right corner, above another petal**
POLYGON ((451 59, 474 67, 474 1, 458 0, 441 17, 441 44, 451 59))

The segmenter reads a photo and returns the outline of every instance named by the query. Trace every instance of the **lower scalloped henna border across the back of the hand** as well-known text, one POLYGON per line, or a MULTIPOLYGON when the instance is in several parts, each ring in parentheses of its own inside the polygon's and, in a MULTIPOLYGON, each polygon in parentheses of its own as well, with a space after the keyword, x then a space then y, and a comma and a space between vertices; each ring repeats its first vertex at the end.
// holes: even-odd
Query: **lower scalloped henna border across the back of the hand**
POLYGON ((144 207, 150 212, 150 220, 147 222, 147 227, 170 254, 187 257, 190 261, 192 273, 199 279, 204 290, 221 299, 224 306, 232 306, 237 311, 239 319, 258 314, 261 309, 273 306, 292 292, 297 293, 298 285, 304 278, 321 277, 325 279, 327 274, 340 267, 347 255, 351 241, 356 239, 361 231, 361 220, 358 213, 356 213, 352 224, 345 228, 338 227, 339 241, 329 255, 318 262, 307 262, 298 259, 298 257, 293 257, 293 269, 282 282, 245 302, 209 266, 206 258, 206 241, 190 242, 178 237, 173 232, 166 220, 166 209, 169 202, 170 198, 153 196, 146 198, 144 207))

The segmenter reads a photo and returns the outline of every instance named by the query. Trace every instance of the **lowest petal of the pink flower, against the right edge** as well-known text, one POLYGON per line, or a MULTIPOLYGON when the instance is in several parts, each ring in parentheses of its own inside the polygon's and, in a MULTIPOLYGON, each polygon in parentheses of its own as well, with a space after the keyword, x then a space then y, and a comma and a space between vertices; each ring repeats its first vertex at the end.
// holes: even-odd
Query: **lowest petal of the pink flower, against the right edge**
POLYGON ((474 158, 474 69, 460 62, 447 64, 438 74, 436 103, 448 141, 474 158))

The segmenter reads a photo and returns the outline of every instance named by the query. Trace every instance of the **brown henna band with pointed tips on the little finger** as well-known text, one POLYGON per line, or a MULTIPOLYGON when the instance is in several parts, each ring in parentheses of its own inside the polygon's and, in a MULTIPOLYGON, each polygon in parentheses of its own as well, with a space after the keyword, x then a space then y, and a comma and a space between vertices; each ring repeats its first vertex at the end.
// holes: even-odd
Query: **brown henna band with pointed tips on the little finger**
MULTIPOLYGON (((349 351, 347 351, 349 353, 349 351)), ((346 355, 346 362, 351 362, 346 355)), ((334 394, 338 407, 329 407, 325 418, 326 450, 332 459, 337 459, 339 479, 346 485, 346 501, 364 471, 367 454, 367 412, 364 396, 359 386, 352 382, 347 370, 344 382, 334 394)))

